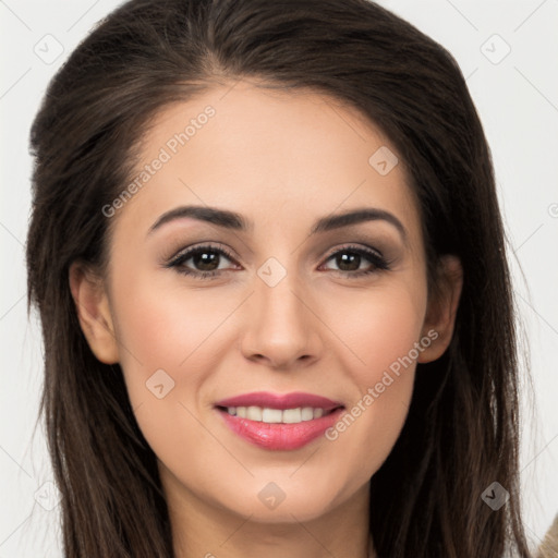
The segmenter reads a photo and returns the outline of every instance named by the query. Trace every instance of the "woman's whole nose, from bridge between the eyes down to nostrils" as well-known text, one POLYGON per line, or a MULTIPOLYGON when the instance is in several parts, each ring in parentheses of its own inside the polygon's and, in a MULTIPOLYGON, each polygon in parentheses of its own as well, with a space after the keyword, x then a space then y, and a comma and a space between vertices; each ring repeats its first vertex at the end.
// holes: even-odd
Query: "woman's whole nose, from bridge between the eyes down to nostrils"
POLYGON ((319 332, 303 302, 304 288, 296 272, 270 259, 255 277, 242 350, 248 359, 289 366, 317 356, 319 332))

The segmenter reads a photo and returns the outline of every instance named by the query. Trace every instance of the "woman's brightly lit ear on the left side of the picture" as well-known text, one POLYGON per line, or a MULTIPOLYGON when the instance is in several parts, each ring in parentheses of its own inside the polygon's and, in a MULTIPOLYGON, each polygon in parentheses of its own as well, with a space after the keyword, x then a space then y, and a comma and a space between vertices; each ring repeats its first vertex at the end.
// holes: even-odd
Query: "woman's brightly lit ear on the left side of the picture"
POLYGON ((102 279, 90 266, 74 262, 69 280, 77 318, 90 350, 100 362, 117 363, 118 343, 102 279))

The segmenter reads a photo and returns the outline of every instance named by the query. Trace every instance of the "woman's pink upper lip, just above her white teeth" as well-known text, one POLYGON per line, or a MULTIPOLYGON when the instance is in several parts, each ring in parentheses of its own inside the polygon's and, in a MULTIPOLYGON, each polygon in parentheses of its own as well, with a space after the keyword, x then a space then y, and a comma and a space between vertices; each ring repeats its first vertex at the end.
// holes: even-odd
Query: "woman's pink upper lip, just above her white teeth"
POLYGON ((268 391, 254 391, 243 393, 217 401, 216 407, 260 407, 266 409, 296 409, 312 407, 331 411, 338 407, 343 407, 338 401, 332 401, 327 397, 315 396, 314 393, 304 393, 303 391, 293 391, 291 393, 270 393, 268 391))

